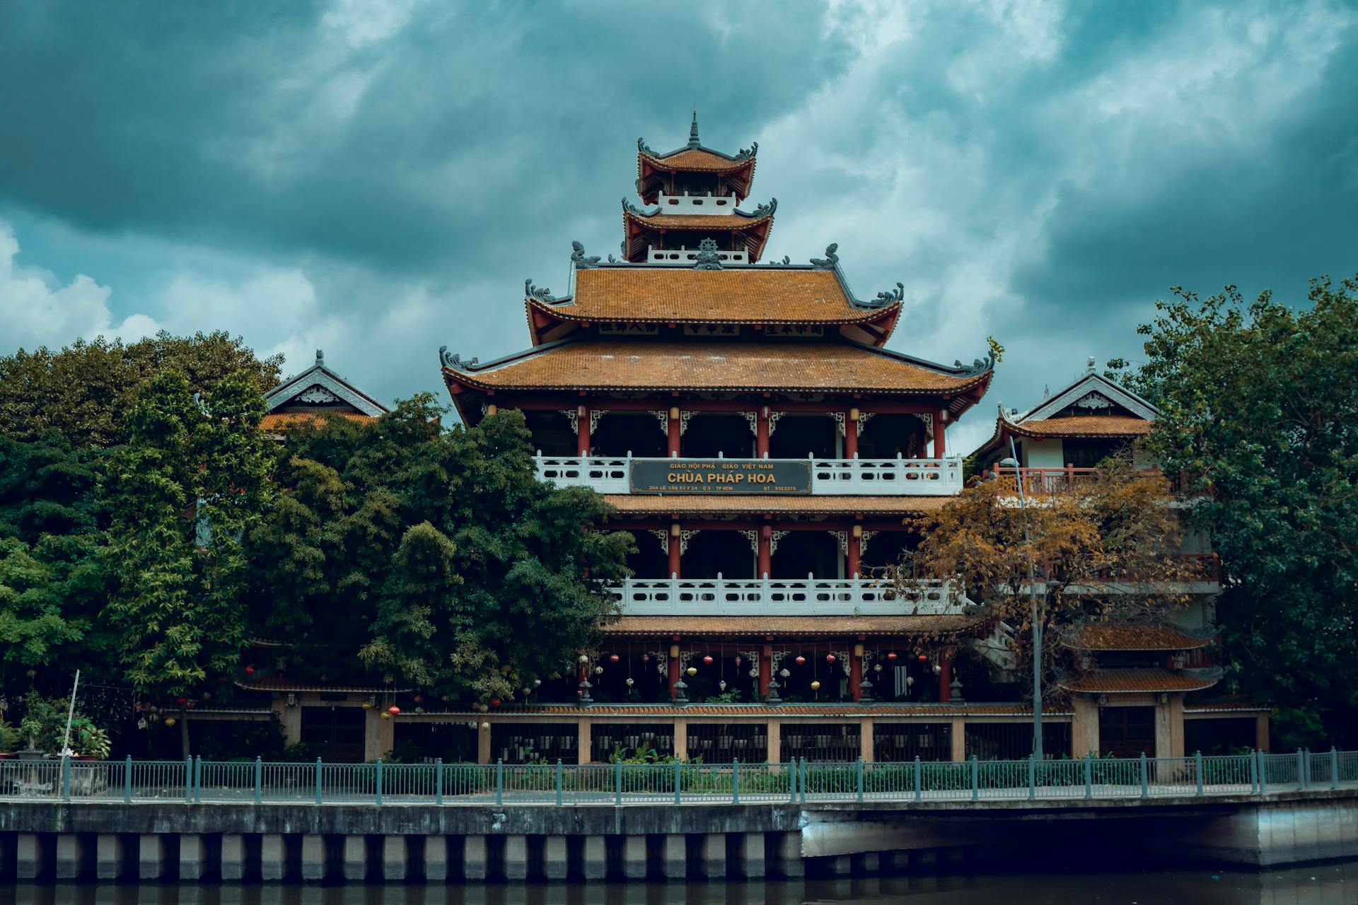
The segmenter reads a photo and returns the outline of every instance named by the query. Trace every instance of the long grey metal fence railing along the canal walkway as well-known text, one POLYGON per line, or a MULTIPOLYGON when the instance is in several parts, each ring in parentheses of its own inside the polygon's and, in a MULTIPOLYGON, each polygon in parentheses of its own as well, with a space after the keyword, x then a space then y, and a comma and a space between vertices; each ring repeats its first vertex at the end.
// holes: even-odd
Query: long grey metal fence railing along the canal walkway
POLYGON ((1358 752, 785 764, 0 760, 0 798, 254 803, 740 803, 1264 795, 1358 787, 1358 752))

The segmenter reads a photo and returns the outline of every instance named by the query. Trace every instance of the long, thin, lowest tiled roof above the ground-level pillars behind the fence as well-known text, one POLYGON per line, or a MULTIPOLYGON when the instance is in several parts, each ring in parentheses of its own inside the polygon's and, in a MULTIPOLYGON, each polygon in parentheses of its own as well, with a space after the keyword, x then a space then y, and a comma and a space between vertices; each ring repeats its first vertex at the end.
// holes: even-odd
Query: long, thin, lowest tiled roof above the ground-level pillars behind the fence
MULTIPOLYGON (((690 716, 722 716, 722 718, 758 718, 767 719, 770 716, 778 716, 788 722, 796 722, 799 718, 804 716, 841 716, 849 719, 858 719, 861 716, 919 716, 921 722, 929 722, 933 718, 938 722, 947 722, 952 716, 1031 716, 1032 710, 1024 707, 1023 704, 888 704, 888 703, 875 703, 870 707, 864 707, 862 704, 782 704, 778 707, 769 707, 766 704, 689 704, 686 707, 668 707, 665 704, 634 704, 634 706, 611 706, 611 704, 592 704, 588 708, 579 707, 576 704, 535 704, 530 707, 521 707, 517 704, 507 704, 498 710, 492 710, 489 714, 482 715, 479 711, 471 710, 449 710, 441 714, 411 714, 402 710, 402 720, 422 720, 422 722, 440 722, 448 716, 459 716, 462 719, 475 715, 477 719, 494 720, 497 716, 536 716, 536 715, 555 715, 555 716, 585 716, 585 718, 599 718, 599 716, 668 716, 668 718, 690 718, 690 716)), ((1058 722, 1067 722, 1071 716, 1070 711, 1051 711, 1048 712, 1043 707, 1042 718, 1048 716, 1057 718, 1058 722)))

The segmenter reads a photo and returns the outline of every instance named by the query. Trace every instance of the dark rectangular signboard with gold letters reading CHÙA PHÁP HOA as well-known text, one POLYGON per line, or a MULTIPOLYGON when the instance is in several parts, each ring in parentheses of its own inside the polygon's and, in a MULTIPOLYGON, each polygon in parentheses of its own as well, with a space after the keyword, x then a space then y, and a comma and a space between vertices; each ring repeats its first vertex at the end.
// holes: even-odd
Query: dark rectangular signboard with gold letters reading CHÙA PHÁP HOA
POLYGON ((809 494, 808 459, 634 459, 634 494, 809 494))

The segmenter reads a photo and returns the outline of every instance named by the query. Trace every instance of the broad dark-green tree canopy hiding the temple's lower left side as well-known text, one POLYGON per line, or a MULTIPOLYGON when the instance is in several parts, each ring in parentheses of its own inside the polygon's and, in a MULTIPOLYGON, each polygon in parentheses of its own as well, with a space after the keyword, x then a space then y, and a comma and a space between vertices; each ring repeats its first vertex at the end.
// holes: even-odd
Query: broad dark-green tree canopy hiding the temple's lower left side
POLYGON ((592 531, 598 495, 535 479, 520 412, 451 430, 441 414, 422 393, 289 434, 288 490, 249 537, 254 612, 307 669, 357 654, 432 693, 508 700, 598 643, 631 537, 592 531))

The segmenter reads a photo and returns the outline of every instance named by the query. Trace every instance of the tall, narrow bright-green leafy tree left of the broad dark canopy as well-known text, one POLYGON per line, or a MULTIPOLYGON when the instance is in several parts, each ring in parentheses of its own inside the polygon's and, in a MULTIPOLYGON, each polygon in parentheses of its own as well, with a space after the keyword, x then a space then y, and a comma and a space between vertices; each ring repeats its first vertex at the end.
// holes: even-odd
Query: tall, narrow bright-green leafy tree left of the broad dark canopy
POLYGON ((163 372, 132 407, 129 442, 105 476, 107 615, 143 695, 190 693, 209 670, 231 670, 246 643, 242 537, 262 518, 276 456, 262 415, 249 372, 210 395, 163 372))

